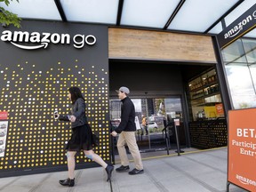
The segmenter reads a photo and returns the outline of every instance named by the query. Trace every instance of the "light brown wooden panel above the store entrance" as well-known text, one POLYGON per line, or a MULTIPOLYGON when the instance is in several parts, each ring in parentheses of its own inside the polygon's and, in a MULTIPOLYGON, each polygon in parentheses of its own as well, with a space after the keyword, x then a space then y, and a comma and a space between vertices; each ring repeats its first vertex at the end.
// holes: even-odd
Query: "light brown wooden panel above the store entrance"
POLYGON ((108 28, 109 59, 216 63, 211 36, 108 28))

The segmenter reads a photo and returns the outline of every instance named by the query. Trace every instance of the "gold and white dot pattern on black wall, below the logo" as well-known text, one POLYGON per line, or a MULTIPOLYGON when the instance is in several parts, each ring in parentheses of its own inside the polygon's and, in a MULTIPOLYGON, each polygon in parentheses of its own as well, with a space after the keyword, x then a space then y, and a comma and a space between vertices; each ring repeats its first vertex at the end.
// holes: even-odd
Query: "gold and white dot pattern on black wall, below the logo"
MULTIPOLYGON (((9 113, 0 172, 67 164, 64 148, 71 130, 68 123, 54 120, 53 112, 70 114, 70 86, 77 86, 84 93, 89 124, 100 137, 100 145, 94 150, 110 161, 108 69, 87 66, 79 60, 44 67, 26 61, 12 67, 0 64, 0 81, 0 111, 9 113)), ((92 161, 80 153, 76 162, 92 161)))

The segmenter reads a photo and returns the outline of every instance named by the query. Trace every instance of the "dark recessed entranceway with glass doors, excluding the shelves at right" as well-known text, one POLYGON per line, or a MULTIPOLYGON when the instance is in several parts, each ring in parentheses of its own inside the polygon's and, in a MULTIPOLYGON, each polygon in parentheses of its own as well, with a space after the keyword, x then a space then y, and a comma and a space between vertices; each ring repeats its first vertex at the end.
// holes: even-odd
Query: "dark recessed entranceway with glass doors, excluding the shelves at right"
MULTIPOLYGON (((130 89, 129 97, 136 106, 136 139, 145 156, 167 155, 164 125, 173 118, 180 119, 178 133, 180 148, 190 148, 188 129, 188 81, 212 66, 186 65, 148 60, 109 60, 109 114, 113 129, 120 122, 121 102, 116 89, 126 86, 130 89), (146 117, 147 126, 142 124, 146 117), (148 128, 148 129, 147 129, 148 128), (148 134, 147 134, 148 133, 148 134), (156 153, 148 153, 156 151, 156 153), (158 153, 158 151, 161 151, 158 153)), ((173 126, 168 128, 171 152, 177 150, 176 134, 173 126)), ((116 139, 114 138, 115 154, 116 139)), ((175 153, 175 152, 174 152, 175 153)))

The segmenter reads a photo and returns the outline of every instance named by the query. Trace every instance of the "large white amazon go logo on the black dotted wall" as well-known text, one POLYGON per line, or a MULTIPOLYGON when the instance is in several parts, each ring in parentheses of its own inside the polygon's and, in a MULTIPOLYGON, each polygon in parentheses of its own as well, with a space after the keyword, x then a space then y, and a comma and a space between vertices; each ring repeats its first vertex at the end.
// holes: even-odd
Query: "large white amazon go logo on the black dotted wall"
POLYGON ((2 32, 1 40, 3 42, 11 42, 14 46, 20 49, 35 50, 40 48, 46 48, 48 44, 73 44, 76 49, 81 49, 84 44, 93 45, 96 43, 96 37, 92 35, 84 36, 77 34, 71 37, 69 34, 58 33, 38 33, 28 31, 10 31, 4 30, 2 32), (72 40, 72 43, 70 43, 72 40), (24 44, 24 43, 32 43, 24 44))

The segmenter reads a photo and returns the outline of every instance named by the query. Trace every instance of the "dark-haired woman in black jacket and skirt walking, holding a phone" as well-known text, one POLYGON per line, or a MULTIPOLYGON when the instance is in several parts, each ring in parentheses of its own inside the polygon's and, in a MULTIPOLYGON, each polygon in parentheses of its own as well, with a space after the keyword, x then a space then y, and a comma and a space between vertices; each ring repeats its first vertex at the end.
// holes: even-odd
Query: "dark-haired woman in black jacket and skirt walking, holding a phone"
POLYGON ((60 185, 68 187, 73 187, 75 185, 75 156, 76 152, 79 152, 80 150, 84 151, 84 155, 87 158, 100 164, 106 170, 108 180, 110 180, 114 166, 106 164, 103 159, 92 150, 96 145, 96 141, 93 139, 92 129, 85 116, 85 102, 82 92, 78 87, 70 87, 68 89, 68 98, 72 102, 71 115, 63 116, 58 113, 54 114, 54 118, 59 119, 60 121, 70 121, 72 128, 72 135, 70 140, 68 140, 66 147, 68 151, 68 179, 60 180, 60 185))

